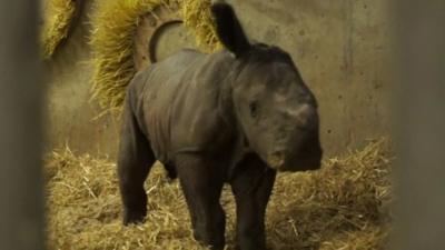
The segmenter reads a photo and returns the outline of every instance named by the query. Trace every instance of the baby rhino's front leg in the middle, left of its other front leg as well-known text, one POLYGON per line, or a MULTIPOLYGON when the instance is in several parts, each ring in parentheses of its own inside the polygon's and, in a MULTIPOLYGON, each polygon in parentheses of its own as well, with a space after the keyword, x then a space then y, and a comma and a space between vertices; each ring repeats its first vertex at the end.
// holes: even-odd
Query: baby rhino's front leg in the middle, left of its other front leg
POLYGON ((198 156, 178 157, 177 171, 190 212, 196 240, 212 250, 225 246, 226 217, 219 198, 224 174, 211 160, 198 156))

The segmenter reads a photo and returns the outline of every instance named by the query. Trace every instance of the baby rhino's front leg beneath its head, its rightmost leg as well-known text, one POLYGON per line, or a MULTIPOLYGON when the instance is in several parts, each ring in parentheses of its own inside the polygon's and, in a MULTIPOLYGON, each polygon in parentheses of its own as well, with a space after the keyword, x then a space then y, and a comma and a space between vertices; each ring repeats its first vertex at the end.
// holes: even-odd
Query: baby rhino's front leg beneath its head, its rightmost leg
POLYGON ((238 249, 266 249, 265 213, 275 176, 256 154, 246 156, 237 166, 230 184, 237 206, 238 249))

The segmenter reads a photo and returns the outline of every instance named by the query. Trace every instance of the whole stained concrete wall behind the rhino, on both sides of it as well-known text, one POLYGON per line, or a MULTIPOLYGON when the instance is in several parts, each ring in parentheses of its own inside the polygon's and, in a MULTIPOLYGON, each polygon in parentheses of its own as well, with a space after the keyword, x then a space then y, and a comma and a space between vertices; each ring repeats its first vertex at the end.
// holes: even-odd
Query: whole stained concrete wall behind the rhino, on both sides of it
MULTIPOLYGON (((385 0, 228 2, 235 6, 251 39, 277 44, 294 58, 318 98, 322 140, 328 154, 388 134, 385 0)), ((118 121, 110 117, 92 121, 100 110, 88 101, 91 68, 86 21, 83 17, 50 63, 50 147, 68 143, 78 151, 113 154, 118 121)))

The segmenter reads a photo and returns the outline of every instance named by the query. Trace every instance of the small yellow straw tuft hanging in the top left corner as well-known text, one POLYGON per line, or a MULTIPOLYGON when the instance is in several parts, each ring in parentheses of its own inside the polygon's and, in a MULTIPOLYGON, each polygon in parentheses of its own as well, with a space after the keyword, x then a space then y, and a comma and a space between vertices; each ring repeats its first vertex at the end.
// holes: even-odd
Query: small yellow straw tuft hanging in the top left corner
POLYGON ((40 34, 43 59, 51 58, 58 44, 67 39, 70 23, 75 18, 76 1, 46 0, 43 7, 43 26, 40 34))

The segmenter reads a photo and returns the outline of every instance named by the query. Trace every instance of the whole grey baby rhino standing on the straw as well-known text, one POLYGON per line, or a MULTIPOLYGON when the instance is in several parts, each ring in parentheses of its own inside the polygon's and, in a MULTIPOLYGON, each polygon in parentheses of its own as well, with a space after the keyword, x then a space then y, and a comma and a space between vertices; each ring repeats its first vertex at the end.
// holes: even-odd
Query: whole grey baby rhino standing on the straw
POLYGON ((226 50, 184 50, 128 88, 118 154, 123 223, 144 221, 144 182, 159 160, 179 177, 198 241, 224 248, 219 198, 228 182, 238 248, 261 250, 276 171, 320 166, 317 104, 286 52, 250 44, 230 6, 211 10, 226 50))

